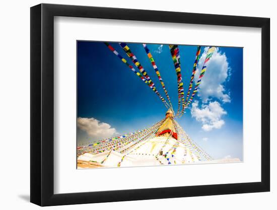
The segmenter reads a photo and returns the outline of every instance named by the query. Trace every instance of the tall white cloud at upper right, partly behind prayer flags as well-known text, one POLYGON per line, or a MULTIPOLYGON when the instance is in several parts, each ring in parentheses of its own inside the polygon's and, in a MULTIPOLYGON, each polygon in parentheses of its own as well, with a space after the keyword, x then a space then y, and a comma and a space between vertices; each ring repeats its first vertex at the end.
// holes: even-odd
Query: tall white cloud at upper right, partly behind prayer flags
MULTIPOLYGON (((208 47, 205 47, 203 54, 201 55, 197 64, 197 69, 194 77, 196 83, 201 72, 208 47)), ((198 88, 198 96, 201 97, 202 102, 207 103, 211 100, 211 97, 215 97, 223 101, 224 103, 231 102, 230 93, 226 93, 224 82, 229 80, 231 76, 231 69, 227 61, 225 53, 221 53, 219 48, 215 49, 215 52, 211 59, 207 62, 207 69, 204 77, 201 80, 201 84, 198 88)))

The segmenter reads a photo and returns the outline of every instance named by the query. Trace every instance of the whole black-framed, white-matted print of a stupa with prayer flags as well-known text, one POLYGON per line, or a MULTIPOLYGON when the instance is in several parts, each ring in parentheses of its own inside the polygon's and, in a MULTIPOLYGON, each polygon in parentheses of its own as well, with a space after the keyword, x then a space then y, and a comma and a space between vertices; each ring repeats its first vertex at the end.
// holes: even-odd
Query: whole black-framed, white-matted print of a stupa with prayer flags
POLYGON ((31 202, 269 191, 269 19, 31 8, 31 202))

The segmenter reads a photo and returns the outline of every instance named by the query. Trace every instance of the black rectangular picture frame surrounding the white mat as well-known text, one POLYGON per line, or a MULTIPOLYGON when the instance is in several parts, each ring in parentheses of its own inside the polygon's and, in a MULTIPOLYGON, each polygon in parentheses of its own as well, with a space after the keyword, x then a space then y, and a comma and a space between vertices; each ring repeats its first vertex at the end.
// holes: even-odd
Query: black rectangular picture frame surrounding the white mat
POLYGON ((270 190, 270 19, 40 4, 31 8, 31 202, 62 205, 270 190), (261 28, 261 182, 54 194, 54 16, 261 28))

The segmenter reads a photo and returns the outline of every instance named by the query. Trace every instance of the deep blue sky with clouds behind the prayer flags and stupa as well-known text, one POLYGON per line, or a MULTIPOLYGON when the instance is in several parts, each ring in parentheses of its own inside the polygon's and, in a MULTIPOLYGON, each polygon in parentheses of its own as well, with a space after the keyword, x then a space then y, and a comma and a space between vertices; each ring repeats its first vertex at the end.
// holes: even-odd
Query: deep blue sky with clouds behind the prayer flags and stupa
MULTIPOLYGON (((118 43, 110 43, 131 65, 118 43)), ((142 44, 131 51, 166 98, 142 44)), ((78 41, 78 144, 148 127, 165 116, 159 97, 102 42, 78 41)), ((148 44, 175 111, 177 77, 167 44, 148 44)), ((197 46, 179 45, 187 93, 197 46)), ((207 48, 201 47, 195 80, 207 48)), ((135 66, 134 66, 135 67, 135 66)), ((138 71, 138 69, 135 67, 138 71)), ((194 88, 194 86, 193 86, 194 88)), ((207 63, 199 92, 176 120, 215 159, 243 157, 243 48, 217 47, 207 63)))

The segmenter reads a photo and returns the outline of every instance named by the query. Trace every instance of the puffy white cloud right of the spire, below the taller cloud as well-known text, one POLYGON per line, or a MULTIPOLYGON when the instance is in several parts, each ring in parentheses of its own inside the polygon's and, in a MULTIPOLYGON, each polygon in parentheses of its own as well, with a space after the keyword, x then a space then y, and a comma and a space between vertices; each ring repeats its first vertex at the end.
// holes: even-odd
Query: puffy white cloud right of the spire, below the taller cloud
POLYGON ((199 122, 202 122, 202 129, 210 131, 214 128, 219 129, 225 121, 221 118, 227 112, 217 101, 209 102, 198 108, 198 101, 192 103, 191 116, 199 122))

